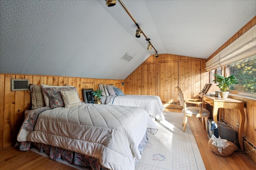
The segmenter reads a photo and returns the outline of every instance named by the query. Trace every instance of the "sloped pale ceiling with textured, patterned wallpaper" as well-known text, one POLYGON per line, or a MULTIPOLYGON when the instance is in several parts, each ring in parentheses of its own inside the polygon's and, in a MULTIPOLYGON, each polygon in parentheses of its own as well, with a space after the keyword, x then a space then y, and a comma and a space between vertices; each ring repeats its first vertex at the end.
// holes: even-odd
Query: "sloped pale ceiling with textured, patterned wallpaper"
MULTIPOLYGON (((158 54, 204 59, 256 16, 256 0, 122 2, 158 54)), ((1 0, 0 73, 125 79, 155 53, 136 28, 119 2, 1 0)))

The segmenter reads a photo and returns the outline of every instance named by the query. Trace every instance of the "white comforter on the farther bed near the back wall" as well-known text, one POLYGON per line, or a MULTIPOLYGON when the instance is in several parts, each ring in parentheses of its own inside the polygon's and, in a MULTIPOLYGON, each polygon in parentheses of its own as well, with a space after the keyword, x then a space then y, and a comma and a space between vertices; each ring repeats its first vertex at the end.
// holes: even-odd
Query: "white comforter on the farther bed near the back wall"
POLYGON ((124 95, 116 96, 113 105, 135 106, 145 109, 149 115, 152 115, 160 121, 164 121, 164 106, 159 96, 149 95, 124 95))

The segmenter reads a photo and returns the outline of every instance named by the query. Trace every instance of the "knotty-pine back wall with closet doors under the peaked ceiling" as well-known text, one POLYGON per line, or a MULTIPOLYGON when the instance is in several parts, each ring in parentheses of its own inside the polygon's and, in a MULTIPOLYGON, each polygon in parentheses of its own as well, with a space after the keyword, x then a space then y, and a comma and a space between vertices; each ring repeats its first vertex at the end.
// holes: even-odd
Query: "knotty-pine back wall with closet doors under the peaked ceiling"
POLYGON ((176 86, 184 88, 189 98, 208 83, 205 59, 172 54, 151 55, 124 80, 125 94, 157 95, 162 102, 177 103, 176 86))

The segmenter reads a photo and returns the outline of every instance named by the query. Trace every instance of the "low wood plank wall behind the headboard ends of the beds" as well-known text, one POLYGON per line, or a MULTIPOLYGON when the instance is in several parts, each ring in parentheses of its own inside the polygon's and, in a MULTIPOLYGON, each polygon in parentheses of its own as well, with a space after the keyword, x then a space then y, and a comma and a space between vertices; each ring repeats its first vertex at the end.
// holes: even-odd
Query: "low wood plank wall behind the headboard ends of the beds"
POLYGON ((24 120, 24 111, 31 109, 30 90, 11 91, 11 79, 29 79, 30 84, 64 86, 69 84, 78 90, 83 101, 83 88, 98 89, 98 84, 114 84, 124 90, 122 81, 63 76, 0 74, 0 149, 16 143, 16 137, 24 120))

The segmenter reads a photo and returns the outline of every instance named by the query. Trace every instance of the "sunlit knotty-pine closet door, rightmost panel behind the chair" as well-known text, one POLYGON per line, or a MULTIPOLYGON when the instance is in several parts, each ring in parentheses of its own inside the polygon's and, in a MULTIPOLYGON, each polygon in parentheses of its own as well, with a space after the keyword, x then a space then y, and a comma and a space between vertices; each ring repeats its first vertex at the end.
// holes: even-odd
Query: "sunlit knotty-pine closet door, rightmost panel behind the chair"
POLYGON ((179 86, 182 88, 185 98, 198 98, 201 61, 180 61, 179 74, 179 86))

